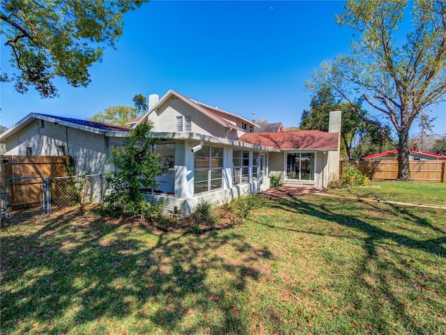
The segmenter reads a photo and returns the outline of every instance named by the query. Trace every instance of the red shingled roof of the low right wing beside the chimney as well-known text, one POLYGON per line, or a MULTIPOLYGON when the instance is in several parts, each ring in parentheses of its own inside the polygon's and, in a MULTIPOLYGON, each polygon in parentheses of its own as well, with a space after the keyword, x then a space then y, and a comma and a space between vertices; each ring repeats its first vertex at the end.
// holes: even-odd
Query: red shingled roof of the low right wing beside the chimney
POLYGON ((297 132, 248 132, 237 141, 277 149, 336 150, 337 132, 299 130, 297 132))

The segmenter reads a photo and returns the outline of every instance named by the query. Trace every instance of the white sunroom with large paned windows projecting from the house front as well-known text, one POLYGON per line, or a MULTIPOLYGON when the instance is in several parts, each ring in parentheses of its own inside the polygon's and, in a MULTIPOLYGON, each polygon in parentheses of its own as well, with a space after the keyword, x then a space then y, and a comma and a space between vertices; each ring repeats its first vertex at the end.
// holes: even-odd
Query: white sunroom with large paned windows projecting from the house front
POLYGON ((156 135, 164 174, 145 198, 164 211, 188 215, 202 201, 224 203, 270 187, 268 155, 275 148, 195 133, 156 135))

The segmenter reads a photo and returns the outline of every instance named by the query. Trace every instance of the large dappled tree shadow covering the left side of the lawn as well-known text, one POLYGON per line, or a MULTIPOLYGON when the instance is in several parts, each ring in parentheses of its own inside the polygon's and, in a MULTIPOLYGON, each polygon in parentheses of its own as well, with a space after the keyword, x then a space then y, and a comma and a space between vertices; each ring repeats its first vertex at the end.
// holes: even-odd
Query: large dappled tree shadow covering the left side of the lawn
POLYGON ((137 334, 249 333, 243 302, 227 292, 259 279, 249 263, 270 251, 233 232, 184 236, 85 217, 72 210, 28 235, 3 227, 1 334, 114 334, 101 320, 126 318, 127 331, 137 334), (247 262, 206 256, 220 247, 243 250, 247 262), (213 283, 210 272, 227 278, 213 283))

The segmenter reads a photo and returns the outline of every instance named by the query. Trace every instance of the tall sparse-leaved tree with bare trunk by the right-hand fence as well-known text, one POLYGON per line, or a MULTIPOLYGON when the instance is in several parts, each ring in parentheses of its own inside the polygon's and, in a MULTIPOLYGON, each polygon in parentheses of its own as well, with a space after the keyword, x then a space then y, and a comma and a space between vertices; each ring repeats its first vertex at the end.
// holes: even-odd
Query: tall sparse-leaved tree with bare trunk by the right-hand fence
MULTIPOLYGON (((351 103, 365 122, 375 125, 398 148, 398 180, 410 178, 408 132, 413 120, 446 93, 446 6, 445 0, 415 0, 408 19, 406 40, 399 24, 407 1, 348 0, 346 11, 337 15, 340 26, 360 33, 351 43, 351 56, 325 61, 306 86, 317 91, 322 85, 351 103), (362 115, 357 102, 367 102, 378 116, 362 115), (385 132, 390 123, 397 139, 385 132)), ((406 17, 407 18, 407 17, 406 17)), ((404 22, 406 24, 406 22, 404 22)))

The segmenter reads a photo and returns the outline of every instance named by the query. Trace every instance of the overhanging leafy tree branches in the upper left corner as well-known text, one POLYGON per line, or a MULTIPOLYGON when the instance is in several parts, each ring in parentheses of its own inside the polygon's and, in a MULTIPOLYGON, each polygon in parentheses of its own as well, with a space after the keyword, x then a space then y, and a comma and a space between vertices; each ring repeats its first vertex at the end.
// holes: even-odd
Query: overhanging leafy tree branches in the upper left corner
POLYGON ((91 64, 121 36, 123 14, 143 2, 1 0, 1 36, 17 69, 17 74, 2 72, 1 81, 15 82, 20 93, 34 86, 42 98, 56 96, 56 76, 74 87, 87 86, 91 64))

